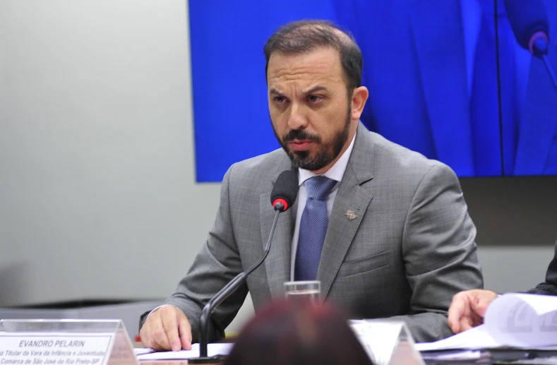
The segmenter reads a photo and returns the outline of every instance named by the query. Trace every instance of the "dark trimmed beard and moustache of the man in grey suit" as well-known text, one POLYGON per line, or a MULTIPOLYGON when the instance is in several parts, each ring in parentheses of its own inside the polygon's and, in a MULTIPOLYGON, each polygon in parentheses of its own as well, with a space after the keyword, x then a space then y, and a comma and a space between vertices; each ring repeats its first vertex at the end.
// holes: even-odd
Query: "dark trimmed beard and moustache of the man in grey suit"
POLYGON ((334 136, 333 142, 326 145, 321 144, 321 137, 313 135, 307 132, 305 129, 292 129, 292 131, 286 133, 284 136, 282 136, 282 138, 279 138, 279 136, 277 135, 277 131, 275 131, 275 128, 273 128, 273 131, 275 131, 275 136, 277 137, 280 145, 287 152, 290 160, 292 160, 292 166, 309 171, 317 171, 319 169, 323 169, 323 167, 333 162, 333 160, 337 158, 337 156, 340 154, 340 151, 345 146, 350 133, 351 115, 352 110, 348 108, 348 116, 345 126, 334 136), (295 139, 311 140, 316 143, 318 145, 316 154, 311 156, 309 150, 294 152, 289 151, 287 143, 295 139))

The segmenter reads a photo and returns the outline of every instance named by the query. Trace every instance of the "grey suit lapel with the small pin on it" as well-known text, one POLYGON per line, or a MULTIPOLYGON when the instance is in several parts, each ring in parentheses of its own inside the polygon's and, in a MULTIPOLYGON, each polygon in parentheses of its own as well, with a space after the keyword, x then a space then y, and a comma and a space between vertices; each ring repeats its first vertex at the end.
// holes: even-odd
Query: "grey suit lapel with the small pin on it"
POLYGON ((352 155, 335 197, 321 253, 317 280, 321 280, 323 298, 333 285, 338 269, 371 202, 371 191, 361 186, 373 179, 373 143, 369 138, 369 131, 360 123, 352 155))

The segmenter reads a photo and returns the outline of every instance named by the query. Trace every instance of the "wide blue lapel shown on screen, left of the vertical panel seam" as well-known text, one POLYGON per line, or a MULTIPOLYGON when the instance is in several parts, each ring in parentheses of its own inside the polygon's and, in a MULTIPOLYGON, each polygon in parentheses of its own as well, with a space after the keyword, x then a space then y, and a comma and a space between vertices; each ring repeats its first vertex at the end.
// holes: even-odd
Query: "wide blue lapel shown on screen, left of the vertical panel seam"
POLYGON ((410 20, 437 158, 473 175, 465 42, 455 3, 421 1, 410 20))

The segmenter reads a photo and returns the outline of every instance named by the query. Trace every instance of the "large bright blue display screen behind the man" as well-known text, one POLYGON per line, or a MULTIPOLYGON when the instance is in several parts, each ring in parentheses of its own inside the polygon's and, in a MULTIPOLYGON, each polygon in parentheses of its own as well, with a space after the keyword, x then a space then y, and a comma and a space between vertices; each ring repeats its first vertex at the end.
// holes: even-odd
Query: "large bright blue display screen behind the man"
POLYGON ((557 88, 517 41, 522 23, 545 19, 546 61, 557 71, 557 1, 534 3, 536 11, 510 0, 189 1, 197 181, 221 181, 234 162, 279 148, 263 46, 300 19, 354 35, 371 131, 462 177, 557 174, 557 88))

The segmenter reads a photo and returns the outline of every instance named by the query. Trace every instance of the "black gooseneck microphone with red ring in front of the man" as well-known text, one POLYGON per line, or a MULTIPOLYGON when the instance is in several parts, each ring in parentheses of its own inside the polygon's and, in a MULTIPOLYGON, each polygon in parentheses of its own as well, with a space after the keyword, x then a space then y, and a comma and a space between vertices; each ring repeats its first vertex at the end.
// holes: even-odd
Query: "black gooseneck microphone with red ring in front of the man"
POLYGON ((285 170, 277 177, 275 186, 272 187, 271 191, 271 204, 272 207, 275 208, 275 220, 272 221, 271 232, 269 234, 267 246, 265 246, 265 251, 263 252, 263 257, 251 266, 251 268, 248 268, 248 270, 243 273, 239 273, 236 277, 234 277, 231 282, 220 289, 220 292, 218 292, 215 297, 212 297, 212 299, 205 304, 199 321, 199 357, 188 359, 188 364, 212 364, 221 360, 219 356, 207 356, 211 313, 213 309, 219 306, 222 301, 227 299, 227 297, 238 289, 240 285, 244 284, 248 275, 251 274, 253 270, 256 270, 256 268, 258 268, 263 261, 265 261, 265 258, 267 258, 271 248, 272 234, 275 232, 278 217, 280 213, 285 212, 292 206, 292 204, 294 204, 298 195, 298 189, 298 176, 293 169, 285 170))

